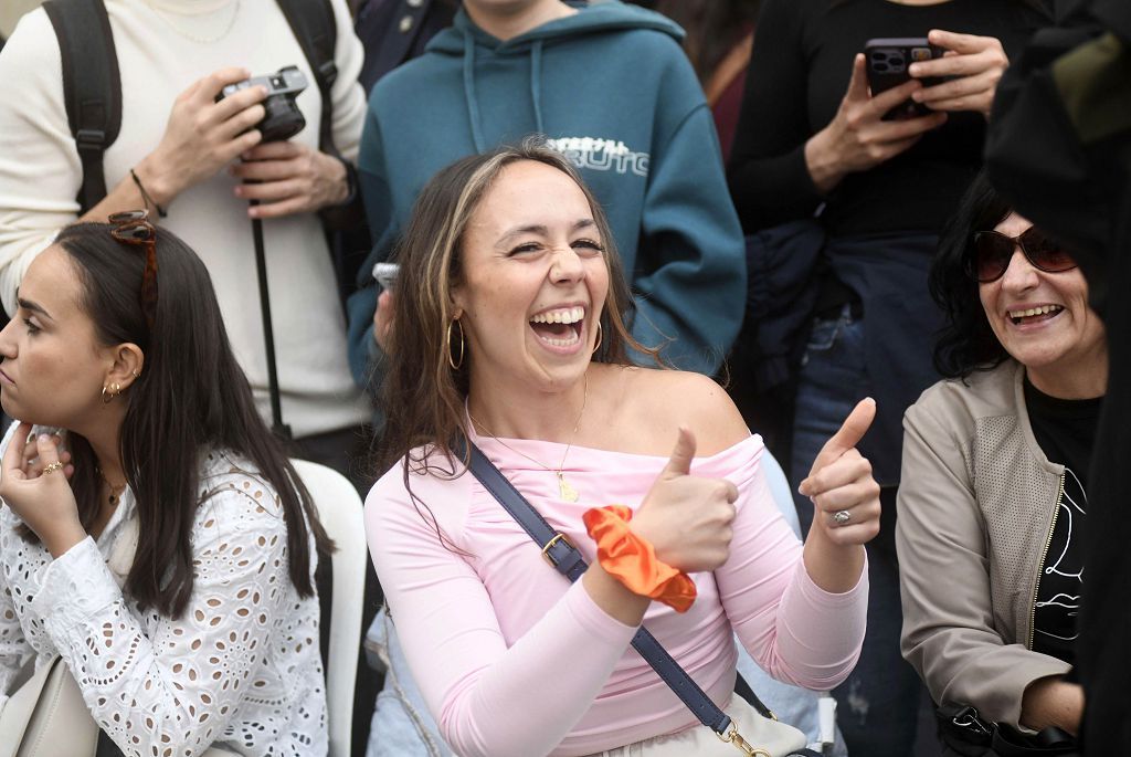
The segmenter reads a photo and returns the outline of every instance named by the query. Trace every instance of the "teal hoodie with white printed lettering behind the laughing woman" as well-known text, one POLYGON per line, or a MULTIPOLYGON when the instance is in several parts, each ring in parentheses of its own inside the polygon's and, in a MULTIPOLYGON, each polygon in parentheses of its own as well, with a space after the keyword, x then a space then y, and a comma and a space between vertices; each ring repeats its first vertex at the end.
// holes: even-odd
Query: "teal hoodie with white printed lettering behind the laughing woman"
POLYGON ((742 325, 745 258, 710 110, 658 14, 582 6, 506 42, 460 10, 425 53, 381 79, 359 167, 378 243, 349 303, 364 372, 377 294, 365 281, 449 163, 543 134, 608 215, 636 295, 633 335, 679 368, 714 373, 742 325), (668 341, 671 337, 672 341, 668 341))

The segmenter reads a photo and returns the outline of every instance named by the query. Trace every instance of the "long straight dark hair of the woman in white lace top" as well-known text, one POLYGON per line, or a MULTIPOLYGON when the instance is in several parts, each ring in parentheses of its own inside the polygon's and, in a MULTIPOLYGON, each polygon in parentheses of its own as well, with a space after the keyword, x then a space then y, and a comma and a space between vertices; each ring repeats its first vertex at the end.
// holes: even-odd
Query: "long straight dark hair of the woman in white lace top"
MULTIPOLYGON (((105 345, 133 343, 145 354, 140 377, 122 398, 129 403, 120 444, 122 470, 138 508, 138 545, 124 591, 141 608, 176 618, 192 594, 192 524, 200 494, 202 456, 242 455, 278 496, 287 527, 291 582, 310 596, 310 533, 333 550, 310 494, 267 429, 248 380, 232 354, 211 278, 200 258, 172 232, 156 233, 157 303, 153 327, 139 293, 143 248, 116 241, 112 226, 81 223, 55 242, 68 253, 83 285, 80 306, 105 345)), ((98 514, 100 479, 90 445, 69 433, 71 488, 83 525, 98 514)))

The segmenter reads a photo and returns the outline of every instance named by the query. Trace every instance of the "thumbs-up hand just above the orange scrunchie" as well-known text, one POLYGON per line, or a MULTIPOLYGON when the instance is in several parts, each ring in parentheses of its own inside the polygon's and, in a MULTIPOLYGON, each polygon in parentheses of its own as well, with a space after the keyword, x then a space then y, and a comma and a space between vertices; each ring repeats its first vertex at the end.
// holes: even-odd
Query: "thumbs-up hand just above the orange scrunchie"
POLYGON ((696 437, 681 427, 675 449, 630 524, 656 557, 684 573, 714 570, 731 554, 739 490, 726 479, 691 475, 696 437))

